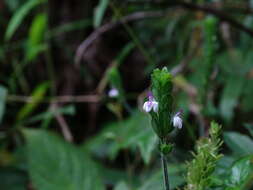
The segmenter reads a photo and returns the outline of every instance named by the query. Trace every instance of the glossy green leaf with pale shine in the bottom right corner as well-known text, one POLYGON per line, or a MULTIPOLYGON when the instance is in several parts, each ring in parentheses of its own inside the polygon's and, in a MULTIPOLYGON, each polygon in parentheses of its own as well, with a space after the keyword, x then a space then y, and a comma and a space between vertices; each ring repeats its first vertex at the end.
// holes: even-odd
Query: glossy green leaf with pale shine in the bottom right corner
POLYGON ((230 187, 242 189, 252 172, 253 156, 241 158, 233 164, 227 184, 230 187))

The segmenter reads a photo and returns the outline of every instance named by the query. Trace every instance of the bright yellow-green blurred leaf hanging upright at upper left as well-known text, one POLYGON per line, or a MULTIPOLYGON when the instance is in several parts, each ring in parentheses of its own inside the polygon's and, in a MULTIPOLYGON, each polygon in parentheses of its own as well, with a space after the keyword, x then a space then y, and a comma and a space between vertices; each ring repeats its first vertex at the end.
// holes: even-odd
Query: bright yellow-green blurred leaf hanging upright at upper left
POLYGON ((26 48, 26 60, 33 60, 38 53, 46 49, 47 46, 42 44, 45 37, 46 28, 47 15, 45 13, 40 13, 33 19, 29 30, 26 48))

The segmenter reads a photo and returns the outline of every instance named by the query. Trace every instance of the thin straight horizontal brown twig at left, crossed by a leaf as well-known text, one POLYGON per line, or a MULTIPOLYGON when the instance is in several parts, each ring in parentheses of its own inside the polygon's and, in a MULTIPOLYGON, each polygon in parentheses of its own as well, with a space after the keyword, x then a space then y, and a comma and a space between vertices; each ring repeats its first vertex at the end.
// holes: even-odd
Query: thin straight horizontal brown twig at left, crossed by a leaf
MULTIPOLYGON (((45 97, 40 102, 42 103, 85 103, 85 102, 97 103, 100 100, 101 100, 101 97, 98 95, 83 95, 83 96, 45 97)), ((35 100, 32 96, 8 95, 7 101, 33 103, 35 100)))

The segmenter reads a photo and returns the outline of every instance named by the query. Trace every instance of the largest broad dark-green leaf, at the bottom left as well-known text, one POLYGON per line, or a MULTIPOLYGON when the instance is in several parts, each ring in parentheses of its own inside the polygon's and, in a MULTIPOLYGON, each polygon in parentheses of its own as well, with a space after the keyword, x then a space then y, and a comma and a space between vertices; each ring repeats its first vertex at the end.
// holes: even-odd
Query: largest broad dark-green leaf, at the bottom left
POLYGON ((103 190, 95 163, 44 130, 24 130, 29 173, 38 190, 103 190))

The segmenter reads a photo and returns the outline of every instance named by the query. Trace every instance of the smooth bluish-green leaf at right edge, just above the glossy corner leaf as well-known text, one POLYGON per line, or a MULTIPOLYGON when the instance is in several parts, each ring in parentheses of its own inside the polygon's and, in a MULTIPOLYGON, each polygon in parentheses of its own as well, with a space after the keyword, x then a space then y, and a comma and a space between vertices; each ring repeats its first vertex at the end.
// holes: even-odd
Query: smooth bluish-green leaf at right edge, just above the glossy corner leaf
POLYGON ((236 154, 253 154, 253 140, 248 136, 236 132, 226 132, 224 134, 224 141, 236 154))

